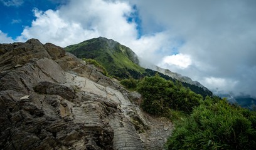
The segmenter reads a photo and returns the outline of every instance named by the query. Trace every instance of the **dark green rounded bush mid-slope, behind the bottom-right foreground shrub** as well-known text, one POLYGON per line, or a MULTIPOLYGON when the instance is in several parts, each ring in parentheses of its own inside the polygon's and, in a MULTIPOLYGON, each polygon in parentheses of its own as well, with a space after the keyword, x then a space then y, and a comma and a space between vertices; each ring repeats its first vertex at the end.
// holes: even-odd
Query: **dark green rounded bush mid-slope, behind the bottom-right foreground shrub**
POLYGON ((142 109, 151 114, 166 114, 169 109, 190 113, 200 104, 200 95, 184 88, 180 83, 174 85, 158 76, 144 78, 137 86, 143 102, 142 109))

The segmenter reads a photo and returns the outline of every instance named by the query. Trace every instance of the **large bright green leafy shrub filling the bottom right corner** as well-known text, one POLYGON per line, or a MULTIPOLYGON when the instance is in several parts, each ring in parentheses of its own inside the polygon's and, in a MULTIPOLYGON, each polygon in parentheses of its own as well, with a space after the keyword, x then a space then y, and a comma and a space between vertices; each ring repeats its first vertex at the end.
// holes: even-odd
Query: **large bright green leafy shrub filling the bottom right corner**
POLYGON ((168 149, 255 149, 256 113, 206 98, 175 125, 168 149))

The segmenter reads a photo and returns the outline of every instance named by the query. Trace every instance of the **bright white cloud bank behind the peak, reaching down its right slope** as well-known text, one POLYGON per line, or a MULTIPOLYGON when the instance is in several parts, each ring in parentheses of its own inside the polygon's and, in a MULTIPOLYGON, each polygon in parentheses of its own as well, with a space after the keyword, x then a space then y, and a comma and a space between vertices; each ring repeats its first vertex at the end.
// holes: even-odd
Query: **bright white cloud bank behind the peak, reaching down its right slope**
POLYGON ((70 1, 56 11, 34 9, 36 19, 30 27, 25 27, 17 40, 37 38, 43 43, 52 42, 65 47, 103 36, 131 47, 142 58, 157 64, 165 53, 169 54, 176 41, 167 31, 137 39, 137 24, 127 22, 127 16, 134 11, 127 2, 102 0, 70 1))

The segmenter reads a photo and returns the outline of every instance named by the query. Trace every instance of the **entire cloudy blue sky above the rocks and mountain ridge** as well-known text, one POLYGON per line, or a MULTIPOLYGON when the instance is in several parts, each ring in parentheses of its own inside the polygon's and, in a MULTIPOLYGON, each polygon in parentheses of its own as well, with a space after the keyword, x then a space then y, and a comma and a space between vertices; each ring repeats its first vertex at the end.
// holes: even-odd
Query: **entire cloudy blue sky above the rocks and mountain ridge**
POLYGON ((144 67, 256 97, 255 8, 254 0, 0 0, 0 43, 65 47, 103 36, 130 47, 144 67))

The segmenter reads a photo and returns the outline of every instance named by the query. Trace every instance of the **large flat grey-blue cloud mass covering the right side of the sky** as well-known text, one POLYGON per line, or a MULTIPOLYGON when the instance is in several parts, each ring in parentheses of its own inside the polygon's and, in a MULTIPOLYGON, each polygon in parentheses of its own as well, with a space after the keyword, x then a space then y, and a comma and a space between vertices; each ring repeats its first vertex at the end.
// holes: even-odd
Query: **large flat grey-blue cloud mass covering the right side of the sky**
POLYGON ((227 93, 256 96, 256 1, 134 3, 140 9, 144 32, 161 27, 184 40, 179 53, 188 55, 192 64, 186 69, 168 64, 166 68, 192 77, 212 90, 220 87, 227 93))

